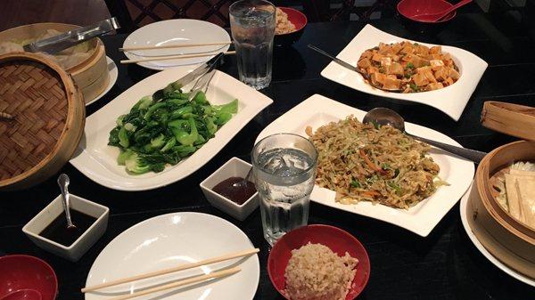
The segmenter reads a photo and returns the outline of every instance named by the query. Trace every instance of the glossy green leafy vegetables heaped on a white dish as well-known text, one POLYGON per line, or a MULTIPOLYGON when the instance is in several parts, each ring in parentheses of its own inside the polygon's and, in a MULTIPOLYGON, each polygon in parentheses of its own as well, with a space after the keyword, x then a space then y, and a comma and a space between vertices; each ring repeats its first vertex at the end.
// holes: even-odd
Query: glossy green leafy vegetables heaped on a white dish
POLYGON ((211 105, 206 94, 190 94, 171 83, 158 101, 145 96, 117 118, 108 144, 120 150, 117 163, 130 174, 161 172, 202 147, 238 112, 238 100, 211 105), (161 99, 160 99, 161 98, 161 99))

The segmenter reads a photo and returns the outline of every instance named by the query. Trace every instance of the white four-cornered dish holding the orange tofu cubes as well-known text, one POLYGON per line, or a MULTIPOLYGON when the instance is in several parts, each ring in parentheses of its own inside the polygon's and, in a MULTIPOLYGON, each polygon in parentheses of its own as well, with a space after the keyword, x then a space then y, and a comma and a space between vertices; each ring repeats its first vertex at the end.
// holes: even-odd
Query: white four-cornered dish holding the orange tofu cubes
MULTIPOLYGON (((392 36, 391 34, 367 24, 336 57, 356 66, 358 58, 367 49, 373 48, 381 42, 390 44, 402 41, 433 46, 432 44, 412 41, 399 36, 392 36)), ((368 85, 365 82, 365 79, 357 72, 345 69, 333 61, 322 70, 321 76, 363 93, 429 105, 435 109, 439 109, 450 118, 458 121, 465 109, 466 103, 470 100, 475 87, 478 85, 485 69, 487 69, 488 64, 473 53, 469 53, 463 49, 448 45, 441 45, 441 47, 443 52, 451 54, 459 68, 461 77, 459 77, 455 84, 441 88, 440 90, 421 93, 385 92, 368 85)))

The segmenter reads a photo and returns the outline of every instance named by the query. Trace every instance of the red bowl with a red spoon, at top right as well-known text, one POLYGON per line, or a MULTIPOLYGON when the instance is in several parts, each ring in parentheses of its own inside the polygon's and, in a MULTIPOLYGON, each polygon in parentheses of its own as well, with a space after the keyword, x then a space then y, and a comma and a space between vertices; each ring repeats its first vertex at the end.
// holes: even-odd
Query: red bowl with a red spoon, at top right
POLYGON ((401 0, 398 3, 398 12, 408 20, 413 20, 419 23, 444 23, 453 19, 457 12, 451 12, 446 18, 436 22, 417 20, 414 17, 418 14, 443 12, 451 6, 453 5, 444 0, 401 0))

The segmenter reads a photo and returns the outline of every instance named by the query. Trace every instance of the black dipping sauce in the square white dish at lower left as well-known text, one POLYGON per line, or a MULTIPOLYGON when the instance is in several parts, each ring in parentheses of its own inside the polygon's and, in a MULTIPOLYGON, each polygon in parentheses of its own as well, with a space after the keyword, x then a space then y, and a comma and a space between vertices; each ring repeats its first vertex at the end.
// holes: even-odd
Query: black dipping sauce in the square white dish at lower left
POLYGON ((70 209, 70 218, 76 228, 67 229, 67 219, 65 212, 62 212, 57 218, 53 220, 46 228, 39 233, 45 239, 51 239, 56 243, 69 247, 77 240, 86 230, 96 221, 96 218, 91 215, 78 212, 78 210, 70 209))

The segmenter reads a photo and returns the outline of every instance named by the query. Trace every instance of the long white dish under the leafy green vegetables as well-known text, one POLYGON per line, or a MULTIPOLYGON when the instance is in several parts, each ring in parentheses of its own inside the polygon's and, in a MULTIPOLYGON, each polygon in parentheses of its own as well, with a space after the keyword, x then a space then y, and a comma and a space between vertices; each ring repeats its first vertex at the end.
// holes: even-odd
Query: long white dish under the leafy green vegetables
POLYGON ((82 141, 70 159, 72 166, 94 182, 114 190, 145 191, 159 188, 177 182, 204 166, 243 126, 273 102, 234 77, 216 71, 206 96, 212 104, 223 104, 237 98, 239 104, 235 116, 219 128, 214 138, 176 166, 167 166, 161 173, 128 174, 124 166, 117 164, 119 148, 108 146, 109 134, 116 126, 116 119, 128 113, 141 97, 154 93, 184 75, 183 69, 167 69, 147 77, 86 118, 82 141))

